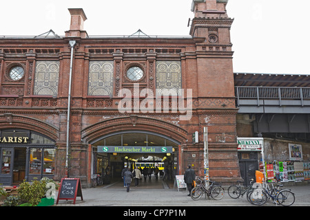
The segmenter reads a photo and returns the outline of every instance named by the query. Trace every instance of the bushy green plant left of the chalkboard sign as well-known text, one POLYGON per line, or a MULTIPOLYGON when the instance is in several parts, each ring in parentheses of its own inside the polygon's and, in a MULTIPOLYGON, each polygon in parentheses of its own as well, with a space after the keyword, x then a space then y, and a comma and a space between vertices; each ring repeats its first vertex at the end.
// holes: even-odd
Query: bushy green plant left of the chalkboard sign
POLYGON ((34 178, 30 184, 28 181, 23 181, 19 185, 19 198, 22 202, 28 202, 32 206, 37 206, 41 201, 41 198, 45 197, 46 184, 44 181, 38 181, 34 178))

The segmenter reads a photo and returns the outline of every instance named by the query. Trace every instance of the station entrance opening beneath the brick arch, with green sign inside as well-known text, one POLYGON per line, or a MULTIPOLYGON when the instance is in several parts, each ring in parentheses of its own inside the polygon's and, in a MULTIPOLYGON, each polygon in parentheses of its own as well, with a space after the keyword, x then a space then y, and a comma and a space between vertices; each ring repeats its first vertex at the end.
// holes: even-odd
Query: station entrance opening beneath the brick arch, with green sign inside
POLYGON ((143 174, 140 186, 161 187, 161 180, 171 182, 178 173, 179 144, 165 135, 144 131, 105 135, 92 143, 92 173, 101 175, 103 186, 121 186, 123 168, 127 166, 133 171, 137 167, 143 174))

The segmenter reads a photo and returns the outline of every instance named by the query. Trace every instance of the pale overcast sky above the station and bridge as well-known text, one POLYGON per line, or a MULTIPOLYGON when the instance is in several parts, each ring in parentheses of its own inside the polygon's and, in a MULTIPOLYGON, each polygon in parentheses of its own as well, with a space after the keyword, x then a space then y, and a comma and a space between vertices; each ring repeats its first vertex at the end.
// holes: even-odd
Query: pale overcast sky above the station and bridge
MULTIPOLYGON (((68 8, 83 8, 93 35, 189 36, 192 0, 10 0, 0 5, 0 36, 70 28, 68 8)), ((229 0, 234 72, 310 74, 310 0, 229 0)), ((1 40, 0 40, 1 41, 1 40)))

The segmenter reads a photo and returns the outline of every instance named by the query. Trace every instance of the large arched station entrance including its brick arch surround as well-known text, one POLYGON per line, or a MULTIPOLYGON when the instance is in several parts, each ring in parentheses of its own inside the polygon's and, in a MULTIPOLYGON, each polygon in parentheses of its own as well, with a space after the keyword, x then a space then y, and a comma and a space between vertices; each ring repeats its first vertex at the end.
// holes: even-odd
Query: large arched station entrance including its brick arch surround
MULTIPOLYGON (((186 140, 186 132, 179 126, 131 115, 94 124, 82 133, 92 145, 91 173, 103 176, 109 173, 106 184, 121 181, 124 166, 131 170, 138 166, 142 172, 144 168, 154 171, 158 166, 159 180, 173 180, 178 174, 179 148, 186 140)), ((153 171, 145 180, 143 176, 145 186, 156 178, 153 171)))

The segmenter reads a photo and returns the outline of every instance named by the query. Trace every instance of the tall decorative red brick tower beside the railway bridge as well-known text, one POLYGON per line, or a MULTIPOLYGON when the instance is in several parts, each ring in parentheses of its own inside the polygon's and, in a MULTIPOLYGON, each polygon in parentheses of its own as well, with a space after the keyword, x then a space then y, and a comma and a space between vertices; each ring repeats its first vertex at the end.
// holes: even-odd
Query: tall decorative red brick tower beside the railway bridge
MULTIPOLYGON (((225 182, 240 180, 236 143, 234 72, 227 16, 228 0, 193 0, 190 34, 196 43, 198 98, 196 131, 208 128, 209 177, 225 182)), ((195 118, 193 117, 193 120, 195 118)), ((200 138, 203 137, 200 135, 200 138)), ((202 144, 195 144, 203 148, 202 144)), ((196 146, 196 147, 198 147, 196 146)), ((191 146, 192 150, 195 146, 191 146)), ((198 148, 197 148, 198 150, 198 148)))

